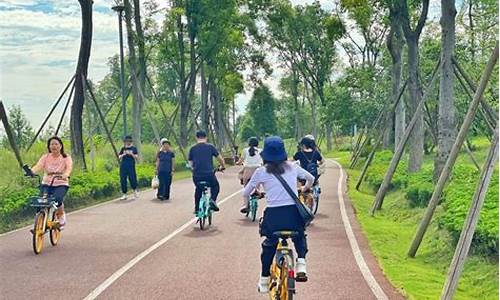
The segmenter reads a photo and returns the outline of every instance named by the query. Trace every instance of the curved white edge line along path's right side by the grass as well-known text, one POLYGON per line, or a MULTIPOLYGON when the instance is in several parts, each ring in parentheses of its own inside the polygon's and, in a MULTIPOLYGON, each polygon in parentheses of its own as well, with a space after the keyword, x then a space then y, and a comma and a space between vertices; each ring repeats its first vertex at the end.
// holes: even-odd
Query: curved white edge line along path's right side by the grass
POLYGON ((356 264, 358 265, 359 270, 361 271, 361 274, 363 275, 363 278, 365 279, 366 283, 368 284, 368 286, 372 290, 373 295, 379 300, 387 300, 389 298, 384 293, 384 291, 382 290, 382 288, 378 284, 375 277, 373 277, 373 274, 370 271, 370 268, 368 268, 368 265, 366 264, 366 261, 363 258, 363 254, 361 253, 361 249, 359 249, 359 245, 358 245, 358 241, 356 240, 356 236, 354 235, 354 232, 352 231, 351 222, 349 221, 349 217, 347 216, 347 212, 345 209, 345 203, 344 203, 344 193, 342 191, 342 183, 344 180, 344 170, 342 169, 342 166, 338 162, 331 160, 331 159, 329 159, 329 161, 336 164, 340 170, 339 183, 337 185, 337 187, 338 187, 337 194, 339 197, 339 204, 340 204, 340 214, 342 215, 342 223, 344 223, 345 232, 347 234, 347 238, 349 239, 349 244, 351 244, 351 250, 352 250, 352 254, 354 255, 354 258, 356 259, 356 264))

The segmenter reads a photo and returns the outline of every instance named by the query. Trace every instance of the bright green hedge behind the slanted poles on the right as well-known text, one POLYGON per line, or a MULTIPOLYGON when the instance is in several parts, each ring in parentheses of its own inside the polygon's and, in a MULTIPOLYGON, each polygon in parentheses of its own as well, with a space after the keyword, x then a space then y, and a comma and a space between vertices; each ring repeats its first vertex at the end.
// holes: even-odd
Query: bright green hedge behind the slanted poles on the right
MULTIPOLYGON (((482 151, 486 151, 484 148, 482 151)), ((377 191, 384 179, 392 152, 376 153, 365 181, 377 191)), ((449 184, 446 186, 440 203, 443 212, 438 217, 439 226, 446 229, 456 243, 460 237, 463 223, 469 210, 472 196, 479 180, 479 172, 467 160, 455 164, 449 184)), ((425 208, 434 192, 433 164, 427 161, 422 170, 408 174, 406 161, 401 161, 390 189, 399 189, 410 208, 425 208)), ((472 250, 486 255, 498 255, 498 171, 495 172, 481 211, 476 233, 472 240, 472 250)))

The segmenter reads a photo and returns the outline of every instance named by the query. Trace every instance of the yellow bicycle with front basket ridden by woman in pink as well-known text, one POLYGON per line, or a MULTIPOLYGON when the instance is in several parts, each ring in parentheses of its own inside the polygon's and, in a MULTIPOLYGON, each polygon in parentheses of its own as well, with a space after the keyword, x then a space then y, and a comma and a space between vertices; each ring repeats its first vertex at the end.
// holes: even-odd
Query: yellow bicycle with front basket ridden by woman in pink
MULTIPOLYGON (((40 176, 37 175, 37 177, 40 183, 40 176)), ((60 178, 60 176, 52 178, 50 186, 54 184, 54 180, 57 178, 60 178)), ((35 254, 40 254, 45 233, 49 232, 52 246, 57 245, 61 239, 61 230, 56 217, 57 201, 53 195, 47 193, 32 196, 29 201, 32 207, 37 208, 33 229, 30 232, 33 234, 33 251, 35 254)))

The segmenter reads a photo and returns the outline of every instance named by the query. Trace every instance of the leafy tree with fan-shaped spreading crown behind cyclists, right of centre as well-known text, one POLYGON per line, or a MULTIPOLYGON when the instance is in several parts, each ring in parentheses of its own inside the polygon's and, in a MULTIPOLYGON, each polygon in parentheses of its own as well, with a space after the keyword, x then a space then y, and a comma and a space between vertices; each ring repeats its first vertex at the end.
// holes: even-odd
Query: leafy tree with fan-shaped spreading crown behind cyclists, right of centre
MULTIPOLYGON (((324 106, 324 87, 332 73, 334 43, 345 32, 341 20, 329 15, 318 2, 293 7, 288 1, 272 1, 266 16, 268 43, 303 76, 311 87, 313 134, 317 135, 317 101, 324 106)), ((330 120, 326 120, 327 148, 331 149, 330 120)))

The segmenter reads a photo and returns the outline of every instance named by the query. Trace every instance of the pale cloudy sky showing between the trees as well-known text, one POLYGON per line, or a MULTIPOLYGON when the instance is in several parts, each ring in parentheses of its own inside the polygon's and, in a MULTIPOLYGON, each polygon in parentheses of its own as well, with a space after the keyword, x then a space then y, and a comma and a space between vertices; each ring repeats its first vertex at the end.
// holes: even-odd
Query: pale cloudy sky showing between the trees
MULTIPOLYGON (((292 1, 306 2, 312 0, 292 1)), ((331 9, 334 3, 320 2, 325 9, 331 9)), ((113 5, 112 0, 94 0, 88 72, 94 82, 107 74, 107 59, 119 52, 117 16, 110 9, 113 5)), ((0 0, 0 99, 7 109, 20 105, 34 128, 41 124, 74 74, 80 30, 81 12, 76 0, 0 0)), ((281 75, 276 70, 265 81, 274 93, 278 93, 281 75)), ((240 112, 250 97, 250 89, 237 95, 240 112)), ((61 111, 56 110, 53 123, 61 111)))

